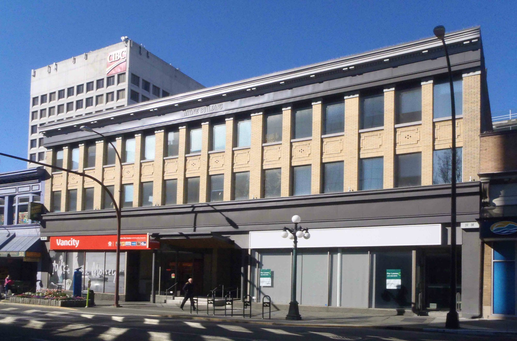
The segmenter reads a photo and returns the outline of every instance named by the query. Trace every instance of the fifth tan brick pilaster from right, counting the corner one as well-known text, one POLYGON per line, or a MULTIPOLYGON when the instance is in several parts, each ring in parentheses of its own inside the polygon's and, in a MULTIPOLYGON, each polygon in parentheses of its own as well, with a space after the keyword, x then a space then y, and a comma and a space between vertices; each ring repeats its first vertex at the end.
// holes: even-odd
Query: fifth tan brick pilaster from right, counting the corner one
POLYGON ((322 190, 322 100, 312 102, 311 194, 322 190))

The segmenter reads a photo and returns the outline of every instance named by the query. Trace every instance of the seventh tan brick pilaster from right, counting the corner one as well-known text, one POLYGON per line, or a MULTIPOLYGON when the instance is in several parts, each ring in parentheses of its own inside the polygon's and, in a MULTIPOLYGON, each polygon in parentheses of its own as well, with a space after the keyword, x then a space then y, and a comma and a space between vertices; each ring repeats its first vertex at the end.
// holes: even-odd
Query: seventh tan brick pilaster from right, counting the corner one
POLYGON ((264 115, 251 114, 250 147, 250 198, 262 197, 262 141, 264 136, 264 115))

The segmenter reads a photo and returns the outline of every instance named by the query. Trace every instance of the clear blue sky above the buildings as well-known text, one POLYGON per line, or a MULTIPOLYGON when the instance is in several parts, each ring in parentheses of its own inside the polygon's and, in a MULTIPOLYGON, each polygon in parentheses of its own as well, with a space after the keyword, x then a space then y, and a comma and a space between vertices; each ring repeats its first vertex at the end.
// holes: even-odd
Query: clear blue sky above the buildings
MULTIPOLYGON (((128 36, 205 86, 481 26, 492 111, 517 109, 514 1, 3 1, 0 151, 26 157, 31 69, 128 36)), ((24 162, 0 157, 0 172, 24 162)))

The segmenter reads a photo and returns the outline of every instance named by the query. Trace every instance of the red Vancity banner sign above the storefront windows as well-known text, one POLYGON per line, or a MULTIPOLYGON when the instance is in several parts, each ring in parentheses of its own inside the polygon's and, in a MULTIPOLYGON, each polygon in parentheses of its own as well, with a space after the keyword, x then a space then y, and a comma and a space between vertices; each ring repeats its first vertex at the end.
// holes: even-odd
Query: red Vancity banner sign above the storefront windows
MULTIPOLYGON (((116 235, 72 235, 50 237, 51 250, 116 250, 116 235)), ((157 249, 160 242, 149 240, 147 234, 123 234, 121 250, 157 249)))

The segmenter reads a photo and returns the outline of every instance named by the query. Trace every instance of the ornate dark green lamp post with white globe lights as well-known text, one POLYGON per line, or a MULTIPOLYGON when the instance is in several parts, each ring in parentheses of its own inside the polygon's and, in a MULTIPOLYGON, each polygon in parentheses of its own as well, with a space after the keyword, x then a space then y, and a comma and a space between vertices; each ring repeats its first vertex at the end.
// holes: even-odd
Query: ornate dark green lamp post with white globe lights
POLYGON ((287 316, 285 316, 286 320, 301 320, 300 311, 298 309, 298 302, 296 302, 296 254, 297 254, 297 244, 298 238, 309 239, 311 238, 311 234, 309 233, 309 229, 303 229, 298 224, 301 221, 299 215, 294 215, 291 218, 294 224, 294 229, 290 229, 284 227, 280 236, 282 238, 289 238, 293 240, 293 261, 292 261, 292 269, 291 269, 291 302, 289 302, 289 312, 287 316))

